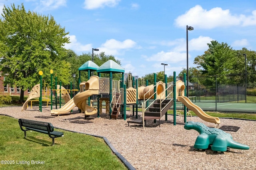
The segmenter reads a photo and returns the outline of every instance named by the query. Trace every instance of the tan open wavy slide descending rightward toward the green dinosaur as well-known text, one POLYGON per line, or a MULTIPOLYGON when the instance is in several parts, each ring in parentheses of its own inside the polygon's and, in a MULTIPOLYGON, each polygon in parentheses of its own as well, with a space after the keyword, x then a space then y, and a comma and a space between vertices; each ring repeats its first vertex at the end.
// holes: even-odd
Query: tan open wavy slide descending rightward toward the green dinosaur
POLYGON ((198 117, 200 117, 204 121, 220 124, 220 118, 207 115, 200 107, 192 103, 192 101, 190 101, 188 97, 178 96, 178 101, 182 102, 186 107, 188 107, 188 109, 192 110, 194 113, 196 113, 196 115, 198 115, 198 117))

